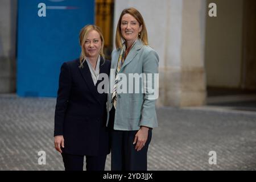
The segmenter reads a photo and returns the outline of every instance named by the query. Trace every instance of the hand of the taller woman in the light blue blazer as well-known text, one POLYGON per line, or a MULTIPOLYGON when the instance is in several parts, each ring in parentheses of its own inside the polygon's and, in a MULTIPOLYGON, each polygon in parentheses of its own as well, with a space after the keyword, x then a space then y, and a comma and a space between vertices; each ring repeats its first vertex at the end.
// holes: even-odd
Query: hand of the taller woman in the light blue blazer
POLYGON ((147 142, 147 135, 148 127, 141 126, 141 129, 139 129, 133 141, 133 144, 136 143, 135 150, 140 151, 142 147, 144 147, 145 143, 147 142))

